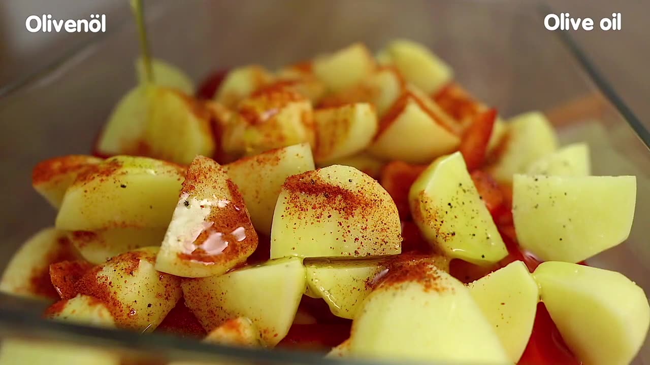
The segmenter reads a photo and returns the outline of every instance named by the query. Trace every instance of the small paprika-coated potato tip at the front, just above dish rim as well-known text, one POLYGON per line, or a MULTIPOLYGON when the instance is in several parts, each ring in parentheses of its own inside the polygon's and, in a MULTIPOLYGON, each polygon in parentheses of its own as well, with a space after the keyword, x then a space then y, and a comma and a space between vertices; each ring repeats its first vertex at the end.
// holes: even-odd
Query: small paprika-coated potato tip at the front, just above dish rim
POLYGON ((227 320, 205 336, 203 342, 240 347, 261 346, 262 338, 253 321, 246 317, 227 320))

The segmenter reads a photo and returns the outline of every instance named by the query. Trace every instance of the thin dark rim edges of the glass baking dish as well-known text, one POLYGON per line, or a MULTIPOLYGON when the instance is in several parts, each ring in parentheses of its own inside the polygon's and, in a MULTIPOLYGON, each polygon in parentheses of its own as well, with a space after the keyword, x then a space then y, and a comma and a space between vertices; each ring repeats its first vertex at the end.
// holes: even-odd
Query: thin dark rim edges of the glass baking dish
MULTIPOLYGON (((471 2, 472 0, 468 1, 471 2)), ((535 1, 532 4, 512 4, 517 4, 515 6, 521 8, 530 8, 531 11, 537 12, 541 16, 553 11, 551 6, 541 3, 540 1, 535 1)), ((159 6, 157 10, 164 11, 164 6, 159 6)), ((129 17, 126 17, 112 30, 96 34, 95 36, 89 37, 88 39, 73 45, 68 51, 62 53, 60 57, 55 58, 52 62, 49 62, 40 68, 32 69, 32 71, 25 73, 18 79, 8 82, 5 86, 1 86, 0 100, 12 97, 23 90, 29 89, 32 85, 38 84, 41 79, 44 79, 50 73, 53 73, 60 67, 64 66, 77 55, 88 51, 88 49, 97 44, 100 44, 105 38, 109 38, 113 34, 122 31, 129 23, 132 23, 132 20, 129 17)), ((605 99, 616 108, 617 112, 619 112, 623 120, 625 120, 630 128, 632 128, 645 147, 650 150, 650 129, 643 125, 639 118, 637 118, 636 114, 634 114, 634 112, 628 107, 627 103, 625 103, 619 94, 617 94, 612 84, 593 64, 591 58, 586 55, 582 47, 578 45, 569 32, 561 31, 551 33, 554 34, 551 34, 550 36, 554 36, 560 40, 560 44, 569 51, 569 54, 575 59, 577 65, 586 73, 589 80, 586 82, 593 83, 597 90, 603 94, 605 99)), ((352 365, 390 364, 390 362, 387 361, 373 359, 326 358, 320 353, 308 351, 287 349, 248 349, 217 344, 205 344, 197 340, 179 338, 178 336, 172 336, 169 334, 151 333, 142 336, 140 333, 123 329, 105 329, 45 320, 38 316, 34 316, 31 310, 25 310, 25 308, 28 307, 34 307, 32 299, 14 297, 0 293, 0 334, 6 334, 10 337, 19 333, 26 337, 36 336, 41 337, 42 340, 53 341, 57 341, 57 334, 65 334, 69 337, 66 338, 66 340, 73 340, 75 343, 79 344, 92 345, 92 343, 90 343, 91 341, 97 341, 101 347, 107 344, 109 347, 151 352, 160 352, 161 350, 168 352, 181 351, 181 353, 194 355, 222 356, 243 362, 263 360, 278 364, 290 362, 352 365)))

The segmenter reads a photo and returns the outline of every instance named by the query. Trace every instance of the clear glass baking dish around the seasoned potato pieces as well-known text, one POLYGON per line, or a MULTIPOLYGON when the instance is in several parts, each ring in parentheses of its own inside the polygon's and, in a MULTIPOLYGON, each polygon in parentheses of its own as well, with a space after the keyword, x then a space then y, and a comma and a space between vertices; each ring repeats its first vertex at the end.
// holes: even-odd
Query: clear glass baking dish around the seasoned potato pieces
MULTIPOLYGON (((589 262, 620 271, 650 292, 650 133, 569 34, 544 29, 548 12, 519 1, 190 0, 151 1, 147 21, 153 55, 197 81, 214 69, 253 62, 275 68, 357 41, 372 49, 396 37, 427 45, 454 67, 465 88, 503 116, 542 110, 564 144, 588 142, 595 175, 637 176, 629 240, 589 262)), ((32 167, 44 158, 90 152, 110 109, 135 84, 135 25, 131 19, 108 22, 106 34, 1 90, 0 270, 25 238, 53 222, 55 212, 32 191, 32 167)), ((0 296, 0 336, 80 342, 162 363, 342 363, 311 353, 53 323, 40 318, 45 305, 0 296)), ((648 340, 635 361, 650 364, 648 340)))

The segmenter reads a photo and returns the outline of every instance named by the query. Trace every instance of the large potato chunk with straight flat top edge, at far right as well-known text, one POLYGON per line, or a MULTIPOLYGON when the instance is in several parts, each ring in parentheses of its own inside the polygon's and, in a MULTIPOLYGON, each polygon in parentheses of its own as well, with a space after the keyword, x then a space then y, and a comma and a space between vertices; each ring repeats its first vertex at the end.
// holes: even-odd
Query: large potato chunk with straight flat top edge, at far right
POLYGON ((636 177, 515 175, 519 244, 543 261, 580 262, 627 239, 636 177))

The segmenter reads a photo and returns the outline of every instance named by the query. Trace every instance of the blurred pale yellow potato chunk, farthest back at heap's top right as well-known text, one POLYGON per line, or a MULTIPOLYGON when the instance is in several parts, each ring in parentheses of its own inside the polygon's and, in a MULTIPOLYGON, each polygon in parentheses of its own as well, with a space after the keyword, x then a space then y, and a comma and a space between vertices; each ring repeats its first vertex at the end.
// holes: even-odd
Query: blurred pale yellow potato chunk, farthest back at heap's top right
POLYGON ((450 66, 436 57, 424 45, 409 40, 394 40, 377 55, 380 64, 394 65, 406 81, 426 94, 432 94, 452 81, 450 66))

